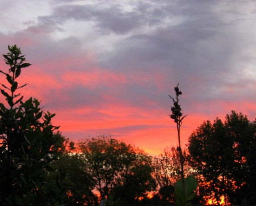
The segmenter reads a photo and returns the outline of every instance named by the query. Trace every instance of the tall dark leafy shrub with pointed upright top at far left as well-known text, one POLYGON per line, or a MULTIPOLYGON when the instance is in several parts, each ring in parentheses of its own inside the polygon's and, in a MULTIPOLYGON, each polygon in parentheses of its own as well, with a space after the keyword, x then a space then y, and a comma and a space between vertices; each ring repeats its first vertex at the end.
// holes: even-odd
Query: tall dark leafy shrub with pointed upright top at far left
POLYGON ((9 86, 1 84, 6 103, 0 103, 0 204, 48 205, 57 204, 46 190, 46 176, 51 163, 61 153, 64 139, 53 133, 55 114, 44 113, 37 99, 22 101, 17 90, 21 70, 30 66, 16 45, 8 46, 3 55, 10 66, 3 72, 9 86))

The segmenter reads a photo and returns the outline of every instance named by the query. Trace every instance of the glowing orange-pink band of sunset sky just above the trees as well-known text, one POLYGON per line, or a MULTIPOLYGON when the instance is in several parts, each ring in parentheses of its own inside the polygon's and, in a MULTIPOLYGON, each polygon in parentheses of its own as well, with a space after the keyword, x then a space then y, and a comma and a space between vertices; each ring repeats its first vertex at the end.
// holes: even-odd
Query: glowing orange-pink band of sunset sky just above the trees
MULTIPOLYGON (((140 147, 150 155, 163 153, 166 147, 176 147, 176 125, 168 116, 171 113, 170 105, 163 108, 158 105, 157 99, 151 99, 146 95, 141 98, 140 103, 143 106, 136 105, 136 102, 130 102, 128 98, 123 98, 122 95, 119 96, 122 93, 121 90, 115 90, 132 83, 146 86, 153 79, 153 84, 156 85, 156 91, 154 92, 157 93, 166 89, 168 81, 165 76, 157 72, 147 75, 142 72, 134 75, 133 72, 122 73, 105 70, 95 64, 95 58, 96 56, 93 53, 87 57, 71 56, 68 60, 60 58, 60 66, 63 66, 63 72, 61 73, 50 73, 45 70, 45 68, 54 68, 56 64, 53 62, 39 64, 38 62, 30 61, 28 58, 28 62, 32 63, 31 69, 33 70, 23 70, 22 75, 19 77, 19 85, 25 83, 29 83, 29 85, 21 88, 20 92, 24 95, 24 99, 32 96, 42 101, 41 106, 45 107, 43 108, 44 111, 49 110, 51 113, 56 113, 56 117, 52 120, 53 125, 61 126, 60 131, 63 136, 73 141, 78 141, 88 136, 111 135, 113 138, 123 140, 127 144, 140 147), (81 59, 83 61, 79 61, 81 59), (76 64, 77 70, 70 71, 68 68, 73 64, 76 64), (88 65, 88 68, 82 69, 84 65, 88 65), (76 105, 76 102, 73 101, 76 96, 70 95, 70 93, 66 92, 66 89, 77 87, 78 85, 96 94, 96 99, 99 97, 99 99, 102 98, 106 101, 104 105, 97 105, 97 102, 94 102, 97 100, 76 105), (102 89, 100 91, 95 90, 95 88, 103 86, 109 88, 109 92, 102 92, 102 89), (63 102, 63 104, 58 105, 58 102, 63 102)), ((6 71, 8 68, 3 59, 0 61, 0 69, 6 71)), ((4 76, 0 78, 3 83, 6 83, 4 76)), ((172 91, 171 89, 170 91, 172 91)), ((171 104, 167 94, 166 102, 171 104)), ((188 101, 186 95, 188 93, 184 88, 183 102, 188 101)), ((5 103, 3 98, 1 100, 5 103)), ((83 99, 79 101, 83 101, 83 99)), ((231 109, 237 112, 241 111, 243 114, 250 114, 256 108, 256 103, 249 101, 236 102, 216 99, 214 102, 206 100, 192 103, 195 109, 205 108, 205 105, 207 105, 209 110, 199 111, 200 113, 197 110, 190 112, 182 104, 183 113, 188 114, 181 128, 183 148, 186 147, 185 144, 187 144, 192 132, 204 120, 213 121, 217 116, 223 120, 231 109)), ((241 161, 243 162, 244 160, 241 161)))

